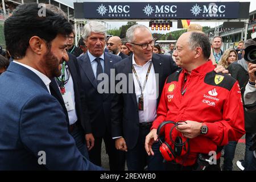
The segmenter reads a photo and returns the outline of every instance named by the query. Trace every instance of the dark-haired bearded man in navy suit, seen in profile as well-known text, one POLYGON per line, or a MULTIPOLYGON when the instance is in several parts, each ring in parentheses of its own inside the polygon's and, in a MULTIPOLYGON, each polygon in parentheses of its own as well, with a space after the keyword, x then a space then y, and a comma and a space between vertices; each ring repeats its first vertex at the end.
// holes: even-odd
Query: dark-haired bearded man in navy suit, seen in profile
POLYGON ((100 170, 68 134, 63 109, 51 96, 51 78, 68 61, 72 25, 38 4, 18 6, 5 21, 14 61, 0 77, 0 170, 100 170))

